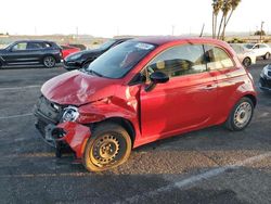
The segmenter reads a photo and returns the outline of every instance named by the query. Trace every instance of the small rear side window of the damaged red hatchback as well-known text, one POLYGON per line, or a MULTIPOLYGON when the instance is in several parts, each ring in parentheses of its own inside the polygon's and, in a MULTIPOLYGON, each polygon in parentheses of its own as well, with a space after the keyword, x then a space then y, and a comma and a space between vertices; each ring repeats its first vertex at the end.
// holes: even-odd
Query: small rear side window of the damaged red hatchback
POLYGON ((234 64, 229 54, 221 48, 205 46, 207 67, 209 71, 233 67, 234 64))

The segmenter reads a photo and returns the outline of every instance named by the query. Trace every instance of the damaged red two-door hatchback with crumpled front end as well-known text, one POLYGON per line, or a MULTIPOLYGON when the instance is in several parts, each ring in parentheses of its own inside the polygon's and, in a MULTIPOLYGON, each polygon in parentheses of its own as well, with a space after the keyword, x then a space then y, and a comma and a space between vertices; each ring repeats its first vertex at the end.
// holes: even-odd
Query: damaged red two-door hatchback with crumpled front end
POLYGON ((88 170, 122 164, 131 149, 225 124, 242 130, 256 105, 251 76, 231 47, 205 38, 124 42, 85 69, 47 81, 36 127, 88 170))

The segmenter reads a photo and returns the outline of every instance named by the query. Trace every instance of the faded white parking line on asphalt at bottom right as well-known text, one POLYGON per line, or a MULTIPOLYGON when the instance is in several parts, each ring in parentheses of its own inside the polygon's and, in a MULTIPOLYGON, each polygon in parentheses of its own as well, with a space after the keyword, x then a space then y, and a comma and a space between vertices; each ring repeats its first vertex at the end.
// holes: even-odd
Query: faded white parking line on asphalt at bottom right
POLYGON ((170 190, 172 190, 175 188, 182 189, 182 188, 189 187, 191 184, 195 184, 196 182, 201 182, 202 180, 207 180, 207 179, 210 179, 210 178, 216 177, 218 175, 221 175, 221 174, 225 173, 229 169, 237 169, 237 168, 240 168, 242 166, 249 165, 249 164, 253 164, 255 162, 259 162, 259 161, 264 160, 264 158, 270 157, 270 156, 271 156, 271 152, 267 152, 264 154, 260 154, 260 155, 257 155, 257 156, 246 158, 244 161, 240 161, 240 162, 237 162, 237 163, 235 163, 233 165, 218 167, 218 168, 208 170, 206 173, 198 174, 198 175, 189 177, 186 179, 176 181, 176 182, 173 182, 171 184, 162 187, 162 188, 156 189, 154 191, 149 191, 149 192, 140 194, 140 195, 134 195, 134 196, 126 199, 125 201, 119 201, 119 202, 116 202, 116 203, 138 203, 140 199, 151 197, 151 196, 157 195, 157 194, 159 194, 162 192, 170 191, 170 190))

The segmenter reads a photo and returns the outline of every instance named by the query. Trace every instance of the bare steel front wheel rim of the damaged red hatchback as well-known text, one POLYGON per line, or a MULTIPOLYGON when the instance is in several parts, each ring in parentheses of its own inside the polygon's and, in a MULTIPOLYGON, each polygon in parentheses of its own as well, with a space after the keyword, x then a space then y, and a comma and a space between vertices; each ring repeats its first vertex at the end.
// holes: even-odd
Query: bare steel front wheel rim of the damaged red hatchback
POLYGON ((105 135, 99 138, 92 149, 92 160, 98 166, 104 166, 116 162, 116 156, 119 153, 119 141, 117 137, 105 135))

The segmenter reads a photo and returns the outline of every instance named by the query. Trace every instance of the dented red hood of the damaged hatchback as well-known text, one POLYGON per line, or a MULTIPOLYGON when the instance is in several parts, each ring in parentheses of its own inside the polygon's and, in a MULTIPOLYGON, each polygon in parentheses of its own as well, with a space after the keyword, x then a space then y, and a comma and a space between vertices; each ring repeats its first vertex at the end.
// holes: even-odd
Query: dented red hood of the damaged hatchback
POLYGON ((41 87, 41 92, 57 104, 80 106, 113 95, 117 82, 117 79, 73 71, 48 80, 41 87))

